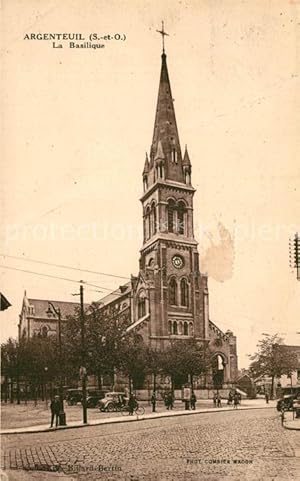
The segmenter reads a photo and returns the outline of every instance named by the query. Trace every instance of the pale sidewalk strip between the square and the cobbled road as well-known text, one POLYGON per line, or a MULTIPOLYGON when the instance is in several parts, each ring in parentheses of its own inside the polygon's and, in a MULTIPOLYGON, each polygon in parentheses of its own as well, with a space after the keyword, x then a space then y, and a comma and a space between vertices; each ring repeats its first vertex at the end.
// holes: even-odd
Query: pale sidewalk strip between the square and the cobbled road
MULTIPOLYGON (((201 404, 201 401, 197 403, 198 405, 201 404)), ((270 402, 266 404, 264 401, 261 400, 247 400, 243 401, 242 405, 235 409, 233 406, 227 406, 221 408, 202 408, 199 407, 194 411, 186 411, 184 409, 174 410, 174 411, 163 411, 158 413, 145 413, 142 416, 133 415, 133 416, 123 416, 119 415, 116 416, 116 413, 112 413, 111 417, 106 417, 103 419, 91 419, 87 424, 83 424, 81 421, 70 421, 67 423, 66 426, 59 426, 57 428, 50 428, 49 424, 42 424, 38 426, 27 426, 27 427, 20 427, 20 428, 11 428, 11 429, 3 429, 1 430, 0 434, 21 434, 21 433, 40 433, 40 432, 49 432, 49 431, 58 431, 62 429, 74 429, 74 428, 86 428, 88 426, 98 426, 102 424, 114 424, 114 423, 125 423, 125 422, 134 422, 137 420, 148 420, 148 419, 159 419, 165 417, 174 417, 174 416, 189 416, 193 414, 202 414, 202 413, 220 413, 224 411, 242 411, 242 410, 249 410, 249 409, 275 409, 274 402, 270 402)), ((298 420, 296 420, 297 422, 298 420)), ((291 421, 292 423, 295 421, 291 421)), ((290 424, 290 422, 285 423, 290 424)), ((287 429, 295 429, 290 428, 288 426, 287 429)))

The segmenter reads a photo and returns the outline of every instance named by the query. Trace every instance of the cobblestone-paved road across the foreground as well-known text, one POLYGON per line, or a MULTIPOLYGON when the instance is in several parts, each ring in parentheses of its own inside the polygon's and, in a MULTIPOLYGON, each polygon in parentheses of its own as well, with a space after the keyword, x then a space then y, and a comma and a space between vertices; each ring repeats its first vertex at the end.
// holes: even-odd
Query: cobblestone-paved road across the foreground
POLYGON ((76 481, 300 480, 300 433, 268 409, 5 436, 2 449, 32 479, 36 465, 76 481))

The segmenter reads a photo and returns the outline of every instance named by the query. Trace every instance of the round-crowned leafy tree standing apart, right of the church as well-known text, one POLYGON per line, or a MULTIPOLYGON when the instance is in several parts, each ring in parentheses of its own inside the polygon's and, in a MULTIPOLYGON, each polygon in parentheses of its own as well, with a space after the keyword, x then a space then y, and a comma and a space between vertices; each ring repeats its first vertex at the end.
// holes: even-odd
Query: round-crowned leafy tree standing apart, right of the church
POLYGON ((274 380, 283 374, 289 375, 297 363, 296 354, 286 349, 278 334, 264 334, 257 344, 257 352, 249 356, 250 372, 254 376, 271 378, 271 398, 274 396, 274 380))

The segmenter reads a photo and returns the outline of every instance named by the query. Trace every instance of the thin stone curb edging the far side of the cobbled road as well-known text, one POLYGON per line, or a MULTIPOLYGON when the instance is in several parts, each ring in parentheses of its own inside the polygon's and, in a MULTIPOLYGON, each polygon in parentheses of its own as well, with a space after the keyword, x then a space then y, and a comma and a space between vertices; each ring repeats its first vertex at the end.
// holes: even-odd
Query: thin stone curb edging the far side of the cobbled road
MULTIPOLYGON (((14 434, 37 434, 37 433, 49 433, 49 432, 56 432, 56 431, 62 431, 66 429, 77 429, 77 428, 88 428, 92 426, 102 426, 106 424, 120 424, 120 423, 128 423, 128 422, 134 422, 134 421, 148 421, 152 419, 161 419, 161 418, 171 418, 171 417, 178 417, 178 416, 191 416, 193 414, 207 414, 207 413, 222 413, 222 412, 232 412, 232 411, 249 411, 252 409, 273 409, 273 406, 241 406, 237 409, 230 407, 230 408, 211 408, 211 409, 205 409, 205 410, 194 410, 194 411, 178 411, 178 412, 163 412, 159 413, 156 415, 151 414, 146 414, 142 416, 136 416, 134 418, 132 417, 126 417, 126 418, 113 418, 109 419, 106 418, 105 420, 100 420, 99 422, 95 423, 87 423, 87 424, 76 424, 76 425, 71 425, 71 426, 60 426, 58 428, 43 428, 43 429, 34 429, 34 426, 32 426, 32 430, 26 430, 24 431, 23 429, 26 428, 20 428, 16 429, 15 431, 1 431, 0 435, 2 436, 9 436, 9 435, 14 435, 14 434), (147 417, 145 417, 147 416, 147 417)), ((31 428, 29 428, 31 429, 31 428)), ((286 429, 294 429, 297 430, 296 428, 288 428, 286 429)))

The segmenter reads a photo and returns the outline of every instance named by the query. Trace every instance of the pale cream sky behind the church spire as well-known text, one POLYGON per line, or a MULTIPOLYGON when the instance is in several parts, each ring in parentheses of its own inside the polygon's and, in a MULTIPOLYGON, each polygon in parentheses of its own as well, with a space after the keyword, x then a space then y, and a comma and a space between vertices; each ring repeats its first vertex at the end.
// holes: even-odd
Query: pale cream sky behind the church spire
POLYGON ((247 367, 262 333, 300 344, 300 282, 289 266, 300 230, 300 2, 160 3, 2 1, 0 290, 12 307, 0 313, 1 337, 17 336, 24 290, 74 301, 83 279, 90 302, 138 273, 164 20, 210 318, 236 334, 247 367), (25 38, 37 33, 111 40, 53 48, 25 38))

